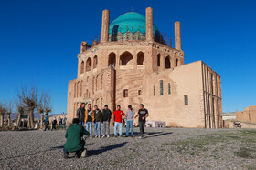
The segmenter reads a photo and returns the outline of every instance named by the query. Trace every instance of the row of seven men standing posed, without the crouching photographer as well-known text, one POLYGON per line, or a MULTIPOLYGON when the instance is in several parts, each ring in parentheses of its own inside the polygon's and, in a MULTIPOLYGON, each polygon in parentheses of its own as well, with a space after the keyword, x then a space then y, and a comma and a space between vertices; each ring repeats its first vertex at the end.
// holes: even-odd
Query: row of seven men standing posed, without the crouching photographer
POLYGON ((103 128, 102 137, 110 137, 110 122, 113 119, 114 122, 114 136, 123 135, 123 117, 126 119, 126 134, 125 137, 129 136, 131 131, 131 136, 133 137, 133 119, 139 117, 139 127, 140 127, 140 138, 144 138, 144 125, 145 119, 148 116, 147 109, 144 105, 139 105, 140 109, 137 114, 133 109, 132 105, 128 105, 128 110, 124 114, 121 110, 121 106, 117 105, 117 109, 113 112, 109 109, 108 105, 104 105, 102 111, 99 109, 98 105, 94 105, 94 109, 91 108, 91 104, 88 104, 88 108, 85 108, 85 103, 80 105, 77 110, 77 117, 80 120, 80 125, 85 126, 86 130, 90 133, 92 138, 92 124, 94 123, 94 133, 95 137, 101 137, 101 124, 103 128), (118 132, 117 132, 118 131, 118 132))

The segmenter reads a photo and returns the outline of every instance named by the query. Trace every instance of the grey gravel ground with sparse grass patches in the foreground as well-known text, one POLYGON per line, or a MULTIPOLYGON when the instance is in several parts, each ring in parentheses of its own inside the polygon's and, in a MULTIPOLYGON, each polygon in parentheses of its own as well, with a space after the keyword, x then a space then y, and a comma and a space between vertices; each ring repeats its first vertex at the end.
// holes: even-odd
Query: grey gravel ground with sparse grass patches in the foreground
POLYGON ((0 132, 0 169, 256 169, 253 130, 145 128, 144 139, 134 131, 87 139, 88 156, 68 160, 65 131, 0 132))

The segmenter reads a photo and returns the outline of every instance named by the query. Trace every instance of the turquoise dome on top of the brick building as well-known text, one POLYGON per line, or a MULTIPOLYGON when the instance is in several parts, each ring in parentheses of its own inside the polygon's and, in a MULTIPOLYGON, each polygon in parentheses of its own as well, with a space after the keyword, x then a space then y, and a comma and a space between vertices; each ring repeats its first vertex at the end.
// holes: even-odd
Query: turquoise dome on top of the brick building
MULTIPOLYGON (((125 13, 114 21, 112 21, 109 29, 109 34, 114 33, 122 33, 125 34, 127 32, 136 33, 140 32, 141 34, 145 35, 145 16, 139 13, 125 13)), ((158 31, 158 28, 153 25, 153 34, 158 31)))

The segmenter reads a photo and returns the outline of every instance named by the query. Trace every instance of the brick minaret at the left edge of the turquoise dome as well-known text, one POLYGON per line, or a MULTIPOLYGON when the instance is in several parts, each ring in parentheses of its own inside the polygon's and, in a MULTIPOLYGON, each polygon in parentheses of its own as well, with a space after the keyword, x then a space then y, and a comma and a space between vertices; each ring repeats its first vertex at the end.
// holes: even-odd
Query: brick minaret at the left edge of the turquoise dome
POLYGON ((101 43, 109 41, 110 11, 102 12, 101 43))

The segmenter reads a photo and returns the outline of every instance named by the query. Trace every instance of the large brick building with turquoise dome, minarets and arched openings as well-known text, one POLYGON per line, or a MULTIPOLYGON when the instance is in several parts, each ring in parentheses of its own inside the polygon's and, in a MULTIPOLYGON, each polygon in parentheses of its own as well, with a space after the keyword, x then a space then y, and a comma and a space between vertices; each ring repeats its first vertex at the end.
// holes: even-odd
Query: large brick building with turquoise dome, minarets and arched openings
POLYGON ((143 103, 148 120, 167 126, 222 127, 220 76, 202 61, 184 65, 180 22, 175 23, 175 47, 153 24, 153 9, 145 16, 130 12, 109 24, 102 12, 101 41, 81 43, 78 75, 69 81, 68 121, 80 103, 133 105, 143 103))

